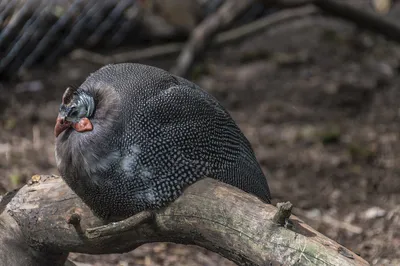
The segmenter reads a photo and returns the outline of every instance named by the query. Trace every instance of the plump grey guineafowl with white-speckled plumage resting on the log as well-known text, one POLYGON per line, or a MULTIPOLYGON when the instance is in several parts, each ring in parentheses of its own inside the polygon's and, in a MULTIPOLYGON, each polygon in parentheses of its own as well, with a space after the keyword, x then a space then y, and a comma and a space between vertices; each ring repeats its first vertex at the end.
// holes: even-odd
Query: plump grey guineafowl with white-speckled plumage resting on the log
POLYGON ((161 68, 109 64, 68 87, 54 134, 61 177, 106 221, 165 207, 204 177, 271 200, 252 146, 228 111, 161 68))

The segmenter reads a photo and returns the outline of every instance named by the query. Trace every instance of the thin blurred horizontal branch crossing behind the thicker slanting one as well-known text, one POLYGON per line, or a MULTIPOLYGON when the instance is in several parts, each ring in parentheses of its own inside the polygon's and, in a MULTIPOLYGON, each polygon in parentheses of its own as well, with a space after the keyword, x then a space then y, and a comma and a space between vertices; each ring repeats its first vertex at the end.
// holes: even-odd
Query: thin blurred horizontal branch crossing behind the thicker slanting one
MULTIPOLYGON (((212 47, 225 45, 256 34, 271 26, 279 23, 302 18, 304 16, 318 14, 319 11, 313 6, 303 8, 294 8, 283 10, 267 17, 260 18, 243 26, 227 30, 218 34, 212 42, 212 47)), ((154 59, 162 56, 171 56, 178 54, 184 48, 185 43, 170 43, 165 45, 157 45, 141 50, 118 53, 114 55, 101 55, 83 49, 74 50, 70 54, 70 58, 74 60, 86 60, 94 64, 107 65, 110 63, 135 62, 147 59, 154 59)))

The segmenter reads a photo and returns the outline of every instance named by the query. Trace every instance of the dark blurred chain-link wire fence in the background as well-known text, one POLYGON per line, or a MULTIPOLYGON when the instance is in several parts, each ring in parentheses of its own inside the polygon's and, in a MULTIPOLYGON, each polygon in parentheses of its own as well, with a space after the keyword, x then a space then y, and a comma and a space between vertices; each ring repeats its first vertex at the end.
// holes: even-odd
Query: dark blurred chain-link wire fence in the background
MULTIPOLYGON (((0 0, 0 79, 35 64, 51 65, 77 47, 140 42, 146 0, 0 0)), ((162 0, 159 0, 162 1, 162 0)), ((197 0, 204 13, 224 0, 197 0)), ((245 20, 260 15, 249 11, 245 20)))

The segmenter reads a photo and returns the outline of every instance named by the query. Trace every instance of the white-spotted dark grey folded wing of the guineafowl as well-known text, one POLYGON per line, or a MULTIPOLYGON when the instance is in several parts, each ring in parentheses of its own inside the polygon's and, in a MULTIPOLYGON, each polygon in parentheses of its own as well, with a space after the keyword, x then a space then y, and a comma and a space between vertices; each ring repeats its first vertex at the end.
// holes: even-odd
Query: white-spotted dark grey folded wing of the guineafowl
POLYGON ((217 100, 190 84, 170 86, 146 102, 144 164, 165 187, 182 189, 210 176, 268 199, 248 140, 217 100))

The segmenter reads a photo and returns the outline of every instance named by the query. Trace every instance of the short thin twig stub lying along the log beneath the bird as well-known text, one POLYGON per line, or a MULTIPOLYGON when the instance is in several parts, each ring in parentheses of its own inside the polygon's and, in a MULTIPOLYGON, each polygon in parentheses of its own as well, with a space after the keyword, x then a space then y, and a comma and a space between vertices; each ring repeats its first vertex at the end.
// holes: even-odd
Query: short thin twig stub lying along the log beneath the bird
POLYGON ((142 211, 125 220, 112 222, 98 227, 88 228, 85 231, 85 235, 87 238, 99 238, 104 236, 117 235, 120 233, 130 231, 136 228, 137 226, 152 220, 153 217, 154 217, 153 212, 142 211))

